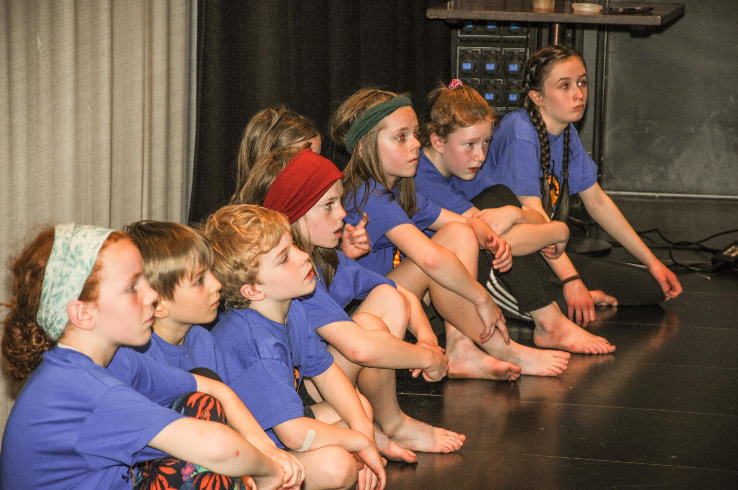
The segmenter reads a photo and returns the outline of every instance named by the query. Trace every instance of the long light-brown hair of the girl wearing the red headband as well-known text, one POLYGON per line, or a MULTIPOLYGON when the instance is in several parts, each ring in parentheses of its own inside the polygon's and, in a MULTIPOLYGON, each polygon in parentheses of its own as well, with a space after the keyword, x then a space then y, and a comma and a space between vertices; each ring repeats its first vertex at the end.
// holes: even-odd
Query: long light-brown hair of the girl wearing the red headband
MULTIPOLYGON (((303 148, 283 148, 267 153, 258 159, 249 173, 249 178, 244 186, 238 191, 237 201, 244 204, 254 204, 262 206, 269 187, 275 182, 279 173, 289 164, 297 153, 303 148)), ((302 219, 302 218, 300 218, 302 219)), ((317 267, 323 272, 323 280, 325 287, 328 288, 333 282, 338 268, 338 254, 335 249, 324 249, 321 246, 311 246, 309 237, 303 235, 300 229, 300 220, 298 219, 290 225, 292 239, 298 249, 310 255, 310 261, 315 272, 315 276, 320 279, 317 267)))

